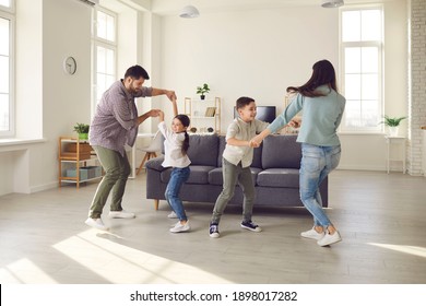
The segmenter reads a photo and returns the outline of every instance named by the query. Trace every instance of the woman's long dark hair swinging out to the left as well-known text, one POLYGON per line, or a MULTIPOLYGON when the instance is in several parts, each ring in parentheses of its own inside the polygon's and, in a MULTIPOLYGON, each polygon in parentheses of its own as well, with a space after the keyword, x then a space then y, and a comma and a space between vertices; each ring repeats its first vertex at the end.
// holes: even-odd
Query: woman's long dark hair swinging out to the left
POLYGON ((324 94, 317 92, 316 89, 326 84, 338 92, 334 68, 327 59, 313 63, 312 75, 306 84, 299 87, 289 86, 287 87, 287 93, 299 93, 309 97, 323 96, 324 94))

